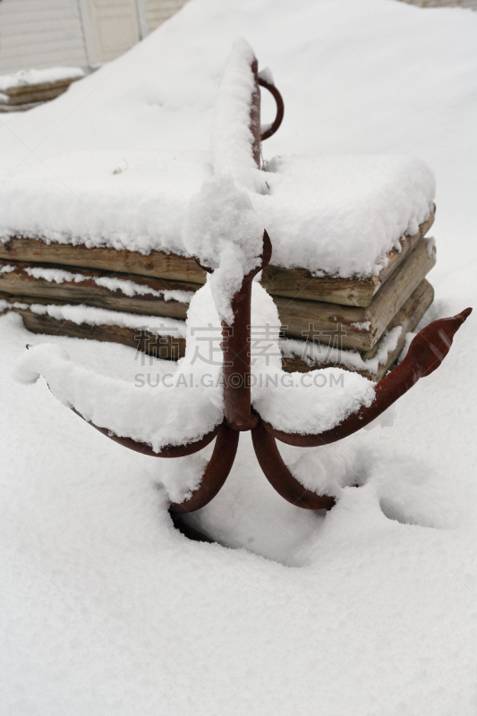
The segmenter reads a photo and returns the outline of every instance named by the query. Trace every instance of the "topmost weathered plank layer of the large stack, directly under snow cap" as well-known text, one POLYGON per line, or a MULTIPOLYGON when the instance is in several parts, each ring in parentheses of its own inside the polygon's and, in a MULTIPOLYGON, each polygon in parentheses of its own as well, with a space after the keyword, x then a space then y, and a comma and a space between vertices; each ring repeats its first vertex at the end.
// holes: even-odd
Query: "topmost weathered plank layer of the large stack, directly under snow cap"
MULTIPOLYGON (((423 222, 419 232, 404 237, 402 251, 390 251, 388 266, 379 276, 367 279, 312 277, 304 268, 264 269, 262 285, 269 294, 300 298, 307 301, 338 303, 349 306, 368 306, 383 284, 405 261, 434 221, 434 211, 423 222)), ((139 251, 116 251, 111 248, 88 248, 84 244, 45 243, 39 239, 13 237, 0 243, 0 259, 35 261, 75 268, 97 268, 121 274, 164 278, 168 281, 202 285, 206 274, 195 260, 164 251, 151 251, 147 256, 139 251)), ((273 260, 273 259, 272 259, 273 260)), ((136 279, 134 279, 136 280, 136 279)))

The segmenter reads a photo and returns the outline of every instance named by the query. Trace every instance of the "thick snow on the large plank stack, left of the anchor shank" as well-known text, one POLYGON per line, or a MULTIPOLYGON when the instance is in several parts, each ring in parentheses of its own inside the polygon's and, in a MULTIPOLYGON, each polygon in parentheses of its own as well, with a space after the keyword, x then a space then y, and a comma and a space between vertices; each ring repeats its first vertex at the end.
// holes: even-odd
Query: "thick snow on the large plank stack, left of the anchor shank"
POLYGON ((183 253, 184 207, 211 175, 208 152, 69 152, 2 183, 0 236, 183 253))

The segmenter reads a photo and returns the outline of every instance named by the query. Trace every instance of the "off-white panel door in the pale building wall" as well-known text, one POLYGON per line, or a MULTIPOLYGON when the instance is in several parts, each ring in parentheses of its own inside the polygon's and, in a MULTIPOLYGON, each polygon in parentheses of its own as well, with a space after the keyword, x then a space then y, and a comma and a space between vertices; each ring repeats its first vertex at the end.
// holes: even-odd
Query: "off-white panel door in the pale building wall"
POLYGON ((123 55, 141 39, 136 0, 88 0, 98 62, 123 55))

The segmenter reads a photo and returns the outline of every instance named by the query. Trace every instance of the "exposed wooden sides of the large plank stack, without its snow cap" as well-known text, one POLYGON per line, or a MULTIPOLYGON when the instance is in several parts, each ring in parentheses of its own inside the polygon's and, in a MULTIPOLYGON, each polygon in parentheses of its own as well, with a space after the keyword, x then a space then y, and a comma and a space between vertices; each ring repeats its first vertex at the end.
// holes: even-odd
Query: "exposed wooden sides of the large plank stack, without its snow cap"
MULTIPOLYGON (((264 270, 262 285, 273 295, 282 324, 285 370, 333 364, 371 379, 388 371, 405 334, 433 300, 426 276, 435 249, 425 238, 433 220, 434 211, 417 234, 403 236, 400 251, 389 252, 377 276, 317 277, 273 265, 264 270)), ((21 237, 0 243, 0 305, 20 312, 27 328, 136 345, 171 359, 183 354, 183 338, 175 341, 174 332, 167 338, 165 328, 160 341, 153 340, 147 317, 185 320, 192 294, 205 280, 194 260, 163 251, 144 255, 21 237), (89 311, 85 320, 68 320, 60 311, 80 305, 116 311, 118 320, 113 312, 113 319, 101 323, 100 311, 98 319, 91 320, 89 311)))

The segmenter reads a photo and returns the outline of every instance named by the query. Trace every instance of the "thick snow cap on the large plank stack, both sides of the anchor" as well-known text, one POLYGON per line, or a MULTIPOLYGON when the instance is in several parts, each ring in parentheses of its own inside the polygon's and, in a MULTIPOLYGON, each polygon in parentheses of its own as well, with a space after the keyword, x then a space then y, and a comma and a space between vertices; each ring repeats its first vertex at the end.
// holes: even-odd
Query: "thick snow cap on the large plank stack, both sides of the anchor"
MULTIPOLYGON (((416 158, 280 157, 267 168, 269 193, 249 197, 272 241, 272 263, 285 268, 378 273, 433 206, 434 177, 416 158)), ((0 240, 191 256, 184 217, 211 177, 205 151, 73 152, 21 166, 0 183, 0 240)))

